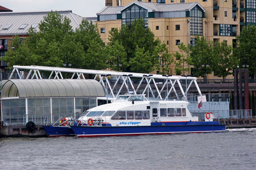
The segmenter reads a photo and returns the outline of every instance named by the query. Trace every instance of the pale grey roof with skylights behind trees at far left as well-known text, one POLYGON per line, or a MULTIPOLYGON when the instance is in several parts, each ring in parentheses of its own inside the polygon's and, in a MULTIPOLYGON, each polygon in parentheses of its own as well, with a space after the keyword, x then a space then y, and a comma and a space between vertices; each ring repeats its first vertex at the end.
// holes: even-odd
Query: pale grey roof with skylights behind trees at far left
MULTIPOLYGON (((46 12, 1 12, 0 13, 0 35, 26 35, 32 24, 40 24, 50 11, 46 12), (3 29, 5 25, 10 24, 8 29, 3 29), (20 26, 27 24, 24 29, 20 26)), ((67 16, 71 20, 73 30, 79 27, 82 17, 73 14, 72 11, 57 11, 62 16, 67 16)), ((36 31, 39 30, 38 25, 36 31)))

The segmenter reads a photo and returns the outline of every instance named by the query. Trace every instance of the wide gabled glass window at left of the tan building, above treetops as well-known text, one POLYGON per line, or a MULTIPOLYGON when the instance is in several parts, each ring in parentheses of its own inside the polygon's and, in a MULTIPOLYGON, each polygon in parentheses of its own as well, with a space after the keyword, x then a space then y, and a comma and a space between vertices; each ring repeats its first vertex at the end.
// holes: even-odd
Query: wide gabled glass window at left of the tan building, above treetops
POLYGON ((131 25, 135 18, 142 18, 145 27, 148 27, 148 12, 146 9, 134 4, 122 11, 122 25, 131 25))

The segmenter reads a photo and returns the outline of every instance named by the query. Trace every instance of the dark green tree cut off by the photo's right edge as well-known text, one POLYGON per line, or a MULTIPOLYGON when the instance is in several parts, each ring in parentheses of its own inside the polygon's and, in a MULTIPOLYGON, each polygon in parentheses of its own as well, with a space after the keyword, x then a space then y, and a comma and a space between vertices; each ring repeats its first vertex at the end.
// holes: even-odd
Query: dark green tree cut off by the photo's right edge
POLYGON ((256 26, 247 24, 237 36, 237 48, 234 54, 240 60, 240 66, 249 65, 249 73, 256 75, 256 26))

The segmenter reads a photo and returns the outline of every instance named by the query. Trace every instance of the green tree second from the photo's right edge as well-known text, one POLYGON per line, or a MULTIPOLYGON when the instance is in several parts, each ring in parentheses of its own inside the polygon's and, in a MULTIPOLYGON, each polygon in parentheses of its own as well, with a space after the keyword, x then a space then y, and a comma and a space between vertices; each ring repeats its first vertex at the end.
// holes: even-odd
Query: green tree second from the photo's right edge
POLYGON ((214 51, 217 56, 216 65, 213 67, 214 75, 222 77, 225 80, 225 76, 228 76, 230 70, 237 66, 237 59, 232 54, 232 46, 228 45, 225 41, 216 42, 214 44, 214 51))

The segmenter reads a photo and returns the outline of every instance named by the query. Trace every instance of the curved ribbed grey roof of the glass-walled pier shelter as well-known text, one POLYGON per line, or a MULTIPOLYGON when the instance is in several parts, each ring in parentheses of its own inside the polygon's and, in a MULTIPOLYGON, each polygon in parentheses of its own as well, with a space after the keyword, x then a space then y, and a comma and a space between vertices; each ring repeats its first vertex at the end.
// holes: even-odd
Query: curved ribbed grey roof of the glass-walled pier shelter
POLYGON ((10 79, 3 80, 2 98, 7 97, 104 97, 97 80, 10 79))

